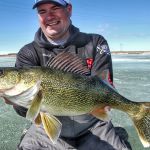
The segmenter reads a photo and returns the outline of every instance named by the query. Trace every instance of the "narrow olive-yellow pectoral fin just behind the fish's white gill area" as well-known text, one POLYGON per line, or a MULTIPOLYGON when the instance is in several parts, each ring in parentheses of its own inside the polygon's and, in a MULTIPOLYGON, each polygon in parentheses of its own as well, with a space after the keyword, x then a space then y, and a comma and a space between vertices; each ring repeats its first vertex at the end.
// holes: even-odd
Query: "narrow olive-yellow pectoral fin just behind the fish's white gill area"
POLYGON ((35 96, 35 98, 32 100, 31 106, 29 107, 26 118, 28 120, 35 120, 40 112, 40 106, 42 103, 42 91, 40 90, 38 94, 35 96))

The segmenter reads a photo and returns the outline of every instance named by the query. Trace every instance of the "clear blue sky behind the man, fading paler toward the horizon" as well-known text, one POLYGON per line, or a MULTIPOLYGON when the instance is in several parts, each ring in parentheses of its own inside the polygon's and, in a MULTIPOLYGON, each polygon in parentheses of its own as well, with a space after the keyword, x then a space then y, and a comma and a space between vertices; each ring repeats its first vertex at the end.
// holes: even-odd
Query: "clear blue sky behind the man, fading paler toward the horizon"
MULTIPOLYGON (((39 24, 34 0, 0 1, 0 53, 18 52, 31 42, 39 24)), ((111 51, 150 50, 150 0, 71 0, 72 22, 98 33, 111 51)))

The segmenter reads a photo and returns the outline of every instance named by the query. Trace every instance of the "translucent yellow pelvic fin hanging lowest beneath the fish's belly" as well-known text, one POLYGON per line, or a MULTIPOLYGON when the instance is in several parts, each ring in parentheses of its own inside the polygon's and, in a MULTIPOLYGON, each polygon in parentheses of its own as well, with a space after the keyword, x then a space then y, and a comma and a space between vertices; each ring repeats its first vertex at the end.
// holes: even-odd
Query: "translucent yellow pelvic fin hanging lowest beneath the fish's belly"
POLYGON ((40 114, 45 132, 50 140, 55 144, 60 135, 62 124, 54 116, 49 116, 48 114, 43 112, 40 112, 40 114))

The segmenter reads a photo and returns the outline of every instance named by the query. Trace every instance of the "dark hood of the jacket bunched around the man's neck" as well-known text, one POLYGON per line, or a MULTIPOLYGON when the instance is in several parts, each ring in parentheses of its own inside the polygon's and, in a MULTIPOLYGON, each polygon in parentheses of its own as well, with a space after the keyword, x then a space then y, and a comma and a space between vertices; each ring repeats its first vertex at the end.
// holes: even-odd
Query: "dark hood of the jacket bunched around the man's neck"
MULTIPOLYGON (((70 37, 68 39, 68 41, 64 44, 64 46, 67 46, 68 44, 70 44, 72 41, 74 41, 75 37, 78 35, 79 33, 79 29, 76 28, 73 25, 70 25, 69 27, 70 30, 70 37)), ((44 35, 44 33, 42 32, 41 28, 38 29, 38 31, 35 33, 35 37, 34 37, 34 41, 41 47, 41 48, 52 48, 52 47, 59 47, 59 45, 52 45, 46 38, 46 36, 44 35)))

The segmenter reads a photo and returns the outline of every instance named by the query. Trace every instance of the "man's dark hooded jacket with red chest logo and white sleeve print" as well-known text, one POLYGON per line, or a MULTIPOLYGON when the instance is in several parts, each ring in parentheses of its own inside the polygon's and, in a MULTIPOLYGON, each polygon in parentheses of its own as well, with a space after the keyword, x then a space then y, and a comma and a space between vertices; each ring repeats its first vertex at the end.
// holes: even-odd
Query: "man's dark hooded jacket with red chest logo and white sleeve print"
MULTIPOLYGON (((64 45, 55 46, 50 44, 41 29, 35 34, 32 43, 25 45, 19 51, 16 67, 22 66, 46 66, 49 59, 62 51, 77 54, 83 59, 84 65, 90 69, 90 75, 99 75, 105 69, 109 69, 109 80, 113 81, 112 60, 107 41, 97 34, 86 34, 79 31, 73 25, 70 26, 71 37, 64 45), (92 64, 88 64, 92 60, 92 64)), ((21 116, 25 116, 26 109, 15 107, 21 116)), ((98 119, 92 115, 74 117, 58 117, 62 122, 63 137, 77 137, 91 128, 98 119)))

